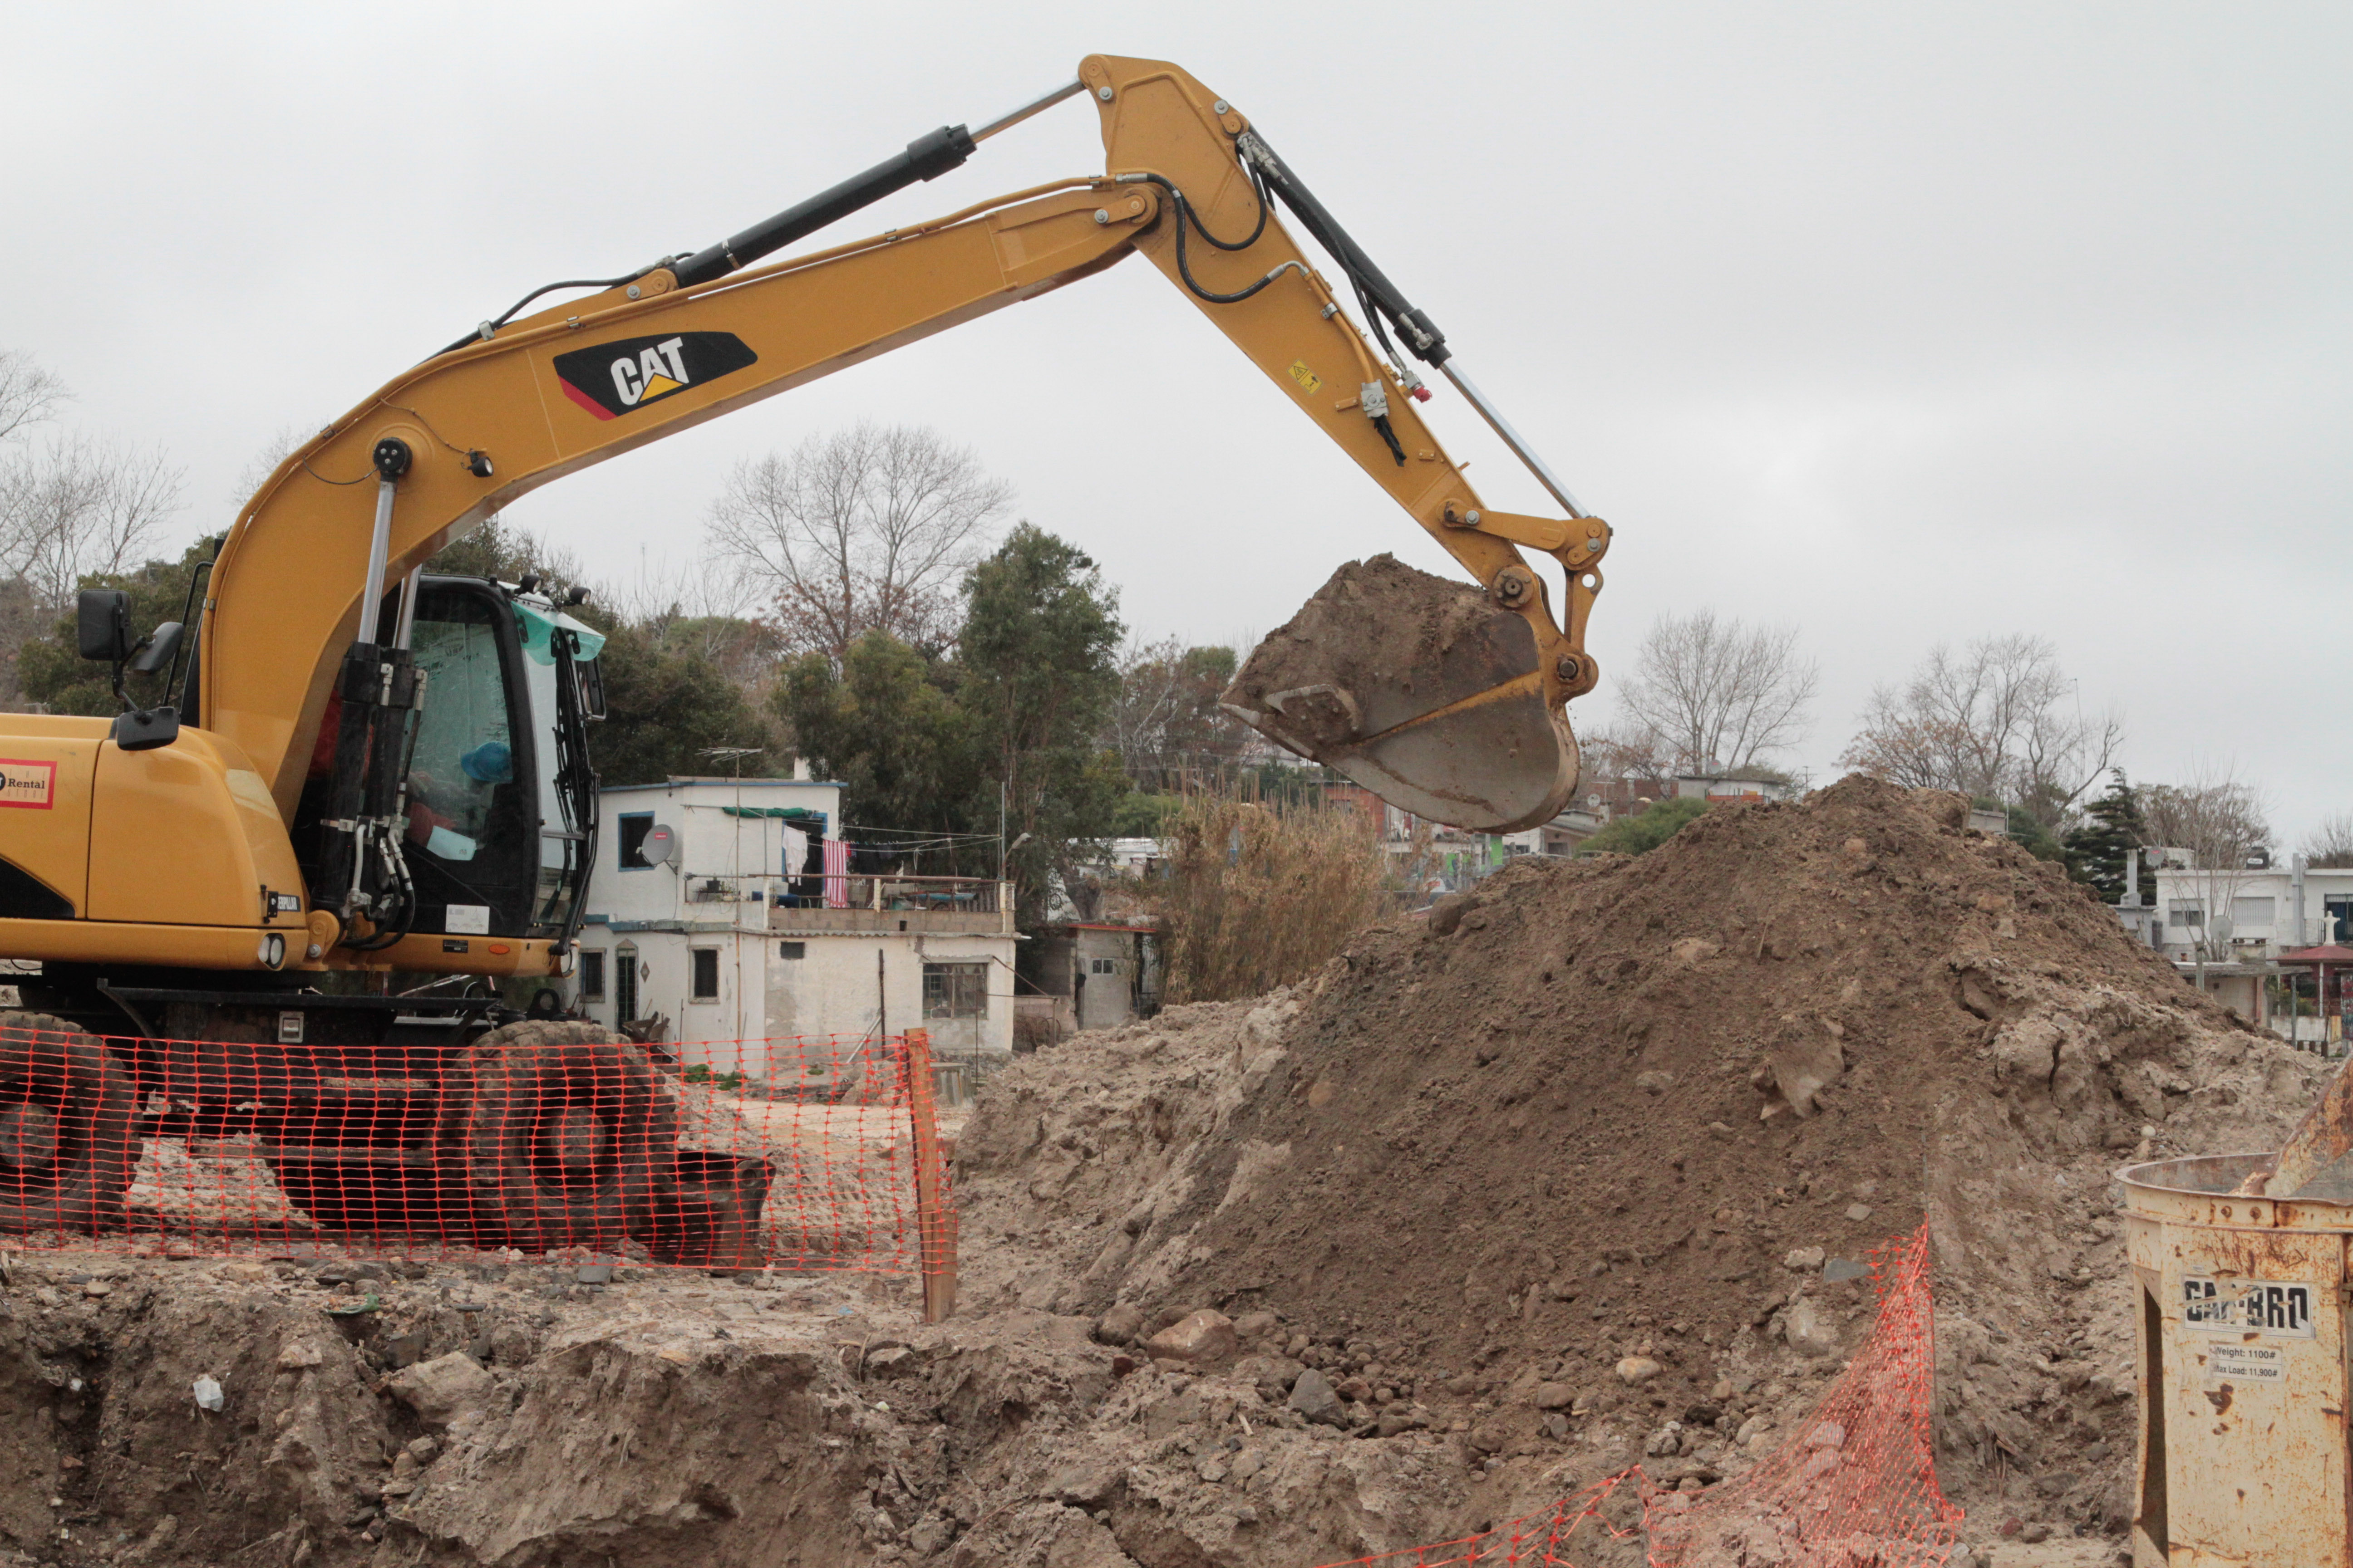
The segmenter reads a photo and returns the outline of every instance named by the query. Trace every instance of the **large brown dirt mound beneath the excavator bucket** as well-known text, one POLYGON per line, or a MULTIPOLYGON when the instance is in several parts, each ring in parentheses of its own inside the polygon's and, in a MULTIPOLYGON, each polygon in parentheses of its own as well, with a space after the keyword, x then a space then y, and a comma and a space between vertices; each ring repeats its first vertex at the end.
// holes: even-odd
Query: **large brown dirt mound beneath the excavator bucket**
POLYGON ((1857 1260, 1925 1215, 1946 1488, 2115 1530, 2108 1173, 2273 1147, 2320 1065, 1962 820, 1861 778, 1718 809, 1508 867, 1297 994, 1078 1037, 967 1128, 969 1288, 1273 1312, 1261 1387, 1315 1368, 1348 1429, 1452 1432, 1501 1481, 1468 1507, 1508 1509, 1631 1458, 1744 1469, 1868 1326, 1857 1260))

